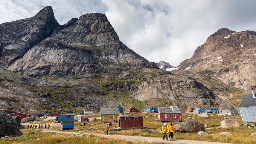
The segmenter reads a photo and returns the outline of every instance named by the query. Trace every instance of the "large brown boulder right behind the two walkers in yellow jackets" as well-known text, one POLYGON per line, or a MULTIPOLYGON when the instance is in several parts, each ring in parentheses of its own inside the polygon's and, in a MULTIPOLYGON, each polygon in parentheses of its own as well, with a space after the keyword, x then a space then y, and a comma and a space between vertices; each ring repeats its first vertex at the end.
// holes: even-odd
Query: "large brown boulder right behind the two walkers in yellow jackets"
POLYGON ((205 132, 205 127, 200 122, 187 121, 174 125, 174 131, 181 133, 198 133, 199 131, 205 132))

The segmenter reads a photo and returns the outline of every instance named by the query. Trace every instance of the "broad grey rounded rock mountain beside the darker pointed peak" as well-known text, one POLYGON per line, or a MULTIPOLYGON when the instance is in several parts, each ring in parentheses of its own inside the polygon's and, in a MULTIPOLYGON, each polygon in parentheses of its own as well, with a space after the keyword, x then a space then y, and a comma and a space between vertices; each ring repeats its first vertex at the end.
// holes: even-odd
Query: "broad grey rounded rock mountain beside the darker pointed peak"
POLYGON ((24 76, 106 73, 158 68, 127 48, 101 13, 71 19, 35 45, 9 69, 24 76))

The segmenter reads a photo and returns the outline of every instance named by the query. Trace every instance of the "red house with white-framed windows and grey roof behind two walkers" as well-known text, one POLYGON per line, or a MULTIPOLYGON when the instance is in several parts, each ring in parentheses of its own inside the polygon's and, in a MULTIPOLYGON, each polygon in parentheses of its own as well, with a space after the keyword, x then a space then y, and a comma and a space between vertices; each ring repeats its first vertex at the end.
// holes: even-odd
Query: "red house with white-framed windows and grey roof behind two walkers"
POLYGON ((158 107, 158 121, 160 122, 181 122, 181 114, 177 106, 159 106, 158 107))

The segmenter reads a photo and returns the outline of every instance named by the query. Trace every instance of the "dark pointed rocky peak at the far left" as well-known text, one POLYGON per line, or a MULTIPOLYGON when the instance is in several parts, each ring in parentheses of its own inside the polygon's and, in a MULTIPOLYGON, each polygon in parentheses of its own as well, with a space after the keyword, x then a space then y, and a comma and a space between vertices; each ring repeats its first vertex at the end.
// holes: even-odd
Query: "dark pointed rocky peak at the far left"
POLYGON ((0 65, 21 58, 59 25, 50 6, 31 18, 0 24, 0 65))

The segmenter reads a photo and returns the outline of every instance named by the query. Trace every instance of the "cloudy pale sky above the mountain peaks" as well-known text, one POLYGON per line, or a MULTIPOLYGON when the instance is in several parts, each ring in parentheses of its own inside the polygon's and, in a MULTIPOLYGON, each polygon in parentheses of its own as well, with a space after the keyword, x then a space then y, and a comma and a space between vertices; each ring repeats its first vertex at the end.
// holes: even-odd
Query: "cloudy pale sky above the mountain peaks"
POLYGON ((256 31, 254 0, 0 0, 0 24, 32 17, 48 5, 60 24, 104 13, 127 47, 173 66, 220 28, 256 31))

